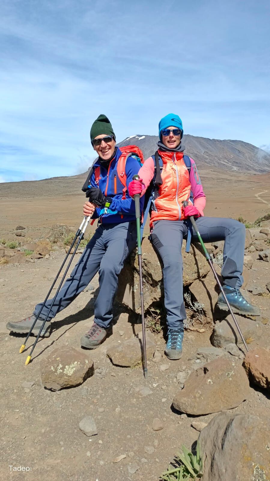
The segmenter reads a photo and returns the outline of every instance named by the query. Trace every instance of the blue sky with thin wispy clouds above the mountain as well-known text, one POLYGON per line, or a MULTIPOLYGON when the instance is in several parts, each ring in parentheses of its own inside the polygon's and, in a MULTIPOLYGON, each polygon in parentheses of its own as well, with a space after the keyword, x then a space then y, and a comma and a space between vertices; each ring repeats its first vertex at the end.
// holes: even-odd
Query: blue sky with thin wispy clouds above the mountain
POLYGON ((270 148, 270 3, 2 0, 0 181, 84 172, 90 127, 270 148))

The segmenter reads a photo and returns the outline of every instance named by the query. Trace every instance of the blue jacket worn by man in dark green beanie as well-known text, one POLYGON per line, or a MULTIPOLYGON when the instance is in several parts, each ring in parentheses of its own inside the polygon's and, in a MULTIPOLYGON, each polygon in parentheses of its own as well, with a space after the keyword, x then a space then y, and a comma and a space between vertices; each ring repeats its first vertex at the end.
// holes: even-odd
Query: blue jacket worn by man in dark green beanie
MULTIPOLYGON (((95 180, 95 167, 100 167, 100 176, 98 179, 98 187, 102 191, 106 197, 110 197, 112 199, 112 203, 110 204, 110 209, 101 209, 97 207, 94 214, 92 215, 93 219, 100 217, 100 222, 102 224, 121 224, 122 222, 130 222, 136 220, 135 217, 135 202, 134 200, 129 197, 128 192, 126 193, 126 199, 122 199, 123 197, 123 184, 121 183, 118 174, 117 174, 117 162, 119 157, 121 156, 122 152, 119 147, 116 148, 116 153, 114 158, 110 161, 109 170, 99 164, 97 161, 93 165, 94 172, 90 178, 89 185, 92 187, 97 187, 96 180, 95 180), (116 182, 116 189, 115 189, 115 182, 116 182), (108 185, 108 187, 107 187, 108 185), (107 192, 105 193, 107 187, 107 192), (116 192, 115 192, 116 190, 116 192)), ((128 157, 125 166, 125 173, 126 173, 126 185, 128 186, 129 183, 132 181, 132 177, 135 176, 139 169, 140 164, 134 157, 128 157)), ((140 198, 140 210, 143 210, 144 205, 144 196, 140 198)))

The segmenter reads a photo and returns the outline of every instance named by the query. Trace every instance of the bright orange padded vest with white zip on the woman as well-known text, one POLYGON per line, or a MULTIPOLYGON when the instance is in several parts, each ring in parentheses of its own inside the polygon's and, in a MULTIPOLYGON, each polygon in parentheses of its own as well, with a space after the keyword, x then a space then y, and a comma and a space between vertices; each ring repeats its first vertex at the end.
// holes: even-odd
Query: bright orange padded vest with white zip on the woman
POLYGON ((156 220, 183 220, 182 202, 189 199, 191 191, 189 172, 183 160, 184 153, 158 152, 163 162, 162 184, 153 201, 150 229, 156 220))

